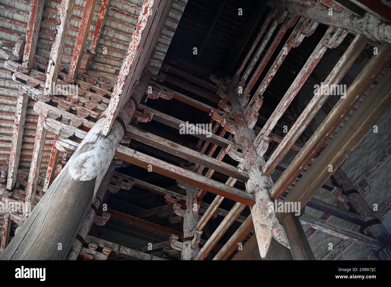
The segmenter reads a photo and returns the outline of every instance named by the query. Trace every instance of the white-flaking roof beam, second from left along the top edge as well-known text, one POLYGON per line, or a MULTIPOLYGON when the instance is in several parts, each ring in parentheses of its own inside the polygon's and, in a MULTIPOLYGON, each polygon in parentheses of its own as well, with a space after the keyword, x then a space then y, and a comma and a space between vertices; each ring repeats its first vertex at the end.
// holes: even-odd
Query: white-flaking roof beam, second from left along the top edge
POLYGON ((61 58, 63 56, 65 38, 68 33, 69 22, 72 16, 72 10, 75 0, 62 0, 58 25, 56 27, 56 38, 53 41, 52 51, 46 71, 46 81, 43 88, 44 96, 53 95, 53 84, 56 85, 58 72, 60 69, 61 58))

